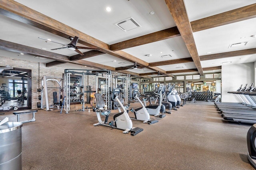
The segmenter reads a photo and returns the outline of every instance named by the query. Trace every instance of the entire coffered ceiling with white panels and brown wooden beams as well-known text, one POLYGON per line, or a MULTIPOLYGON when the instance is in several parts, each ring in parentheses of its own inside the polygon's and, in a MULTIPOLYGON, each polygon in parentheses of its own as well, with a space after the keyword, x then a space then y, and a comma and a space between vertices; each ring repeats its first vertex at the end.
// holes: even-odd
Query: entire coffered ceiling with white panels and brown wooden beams
POLYGON ((204 75, 256 61, 255 0, 0 0, 0 14, 0 56, 46 67, 148 77, 204 75), (77 46, 99 50, 51 50, 74 36, 77 46))

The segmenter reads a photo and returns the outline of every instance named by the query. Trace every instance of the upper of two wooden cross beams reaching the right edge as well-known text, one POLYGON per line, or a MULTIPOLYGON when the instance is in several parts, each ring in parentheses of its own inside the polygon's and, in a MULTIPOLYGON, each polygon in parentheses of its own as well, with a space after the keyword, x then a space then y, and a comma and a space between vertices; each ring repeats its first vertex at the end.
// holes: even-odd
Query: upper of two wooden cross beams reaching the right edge
POLYGON ((200 20, 192 21, 191 27, 193 32, 198 32, 234 22, 248 20, 256 17, 256 4, 244 6, 214 16, 202 18, 200 20))

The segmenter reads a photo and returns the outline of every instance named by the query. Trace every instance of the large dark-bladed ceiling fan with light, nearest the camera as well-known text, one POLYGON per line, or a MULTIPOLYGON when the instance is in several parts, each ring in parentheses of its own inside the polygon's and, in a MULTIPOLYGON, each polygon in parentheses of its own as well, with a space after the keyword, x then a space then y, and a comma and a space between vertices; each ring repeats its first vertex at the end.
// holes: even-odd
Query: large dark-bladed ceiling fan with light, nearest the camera
MULTIPOLYGON (((40 37, 38 37, 38 38, 40 38, 40 37)), ((40 39, 46 40, 46 41, 49 41, 49 42, 54 42, 52 40, 45 39, 45 38, 40 38, 40 39)), ((78 42, 78 37, 76 37, 76 36, 74 38, 69 38, 69 40, 71 41, 69 44, 63 44, 63 43, 54 42, 54 43, 58 43, 58 44, 61 44, 61 45, 65 45, 66 47, 60 47, 60 48, 55 48, 55 49, 51 49, 51 50, 56 50, 56 49, 58 50, 58 49, 67 48, 69 50, 76 51, 80 55, 84 55, 84 54, 81 51, 79 51, 78 49, 94 49, 94 50, 99 50, 98 48, 76 46, 76 43, 78 42)))

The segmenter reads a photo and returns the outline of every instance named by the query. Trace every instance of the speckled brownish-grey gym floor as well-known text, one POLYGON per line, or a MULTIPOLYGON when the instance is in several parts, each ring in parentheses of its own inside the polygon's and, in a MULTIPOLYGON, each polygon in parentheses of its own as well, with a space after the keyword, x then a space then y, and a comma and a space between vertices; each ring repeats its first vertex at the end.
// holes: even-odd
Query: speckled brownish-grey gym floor
MULTIPOLYGON (((73 105, 69 114, 39 110, 36 122, 23 124, 23 170, 254 169, 246 157, 250 125, 224 122, 212 102, 187 103, 164 118, 151 116, 159 120, 153 125, 132 121, 144 129, 136 136, 94 127, 96 113, 76 109, 80 106, 73 105)), ((21 121, 31 116, 21 115, 21 121)), ((12 112, 0 120, 4 117, 17 120, 12 112)))

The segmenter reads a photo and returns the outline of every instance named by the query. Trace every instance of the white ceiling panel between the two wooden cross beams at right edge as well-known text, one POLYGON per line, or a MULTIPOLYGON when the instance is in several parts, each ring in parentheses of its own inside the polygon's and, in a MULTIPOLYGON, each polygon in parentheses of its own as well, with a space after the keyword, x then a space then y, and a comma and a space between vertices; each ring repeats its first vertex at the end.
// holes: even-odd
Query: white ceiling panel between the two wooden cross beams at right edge
POLYGON ((223 53, 256 47, 256 18, 193 33, 198 55, 208 52, 223 53), (242 38, 245 37, 245 38, 242 38), (229 48, 230 44, 248 42, 241 47, 229 48))

